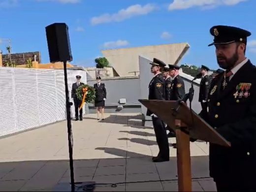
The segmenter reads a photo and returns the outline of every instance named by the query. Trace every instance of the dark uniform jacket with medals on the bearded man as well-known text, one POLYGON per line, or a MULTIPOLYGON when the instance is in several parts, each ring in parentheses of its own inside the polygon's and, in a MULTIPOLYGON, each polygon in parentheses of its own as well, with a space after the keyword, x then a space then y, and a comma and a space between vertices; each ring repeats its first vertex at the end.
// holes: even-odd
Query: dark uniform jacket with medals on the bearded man
POLYGON ((224 90, 223 79, 221 73, 212 80, 209 111, 199 114, 231 143, 230 148, 210 143, 210 176, 256 185, 256 67, 249 60, 224 90))

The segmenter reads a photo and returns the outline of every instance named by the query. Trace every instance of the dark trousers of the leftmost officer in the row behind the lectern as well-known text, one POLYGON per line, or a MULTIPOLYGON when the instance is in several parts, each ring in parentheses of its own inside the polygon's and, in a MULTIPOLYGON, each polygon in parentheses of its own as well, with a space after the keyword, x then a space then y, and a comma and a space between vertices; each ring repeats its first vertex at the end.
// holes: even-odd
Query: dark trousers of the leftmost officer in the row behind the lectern
POLYGON ((162 159, 169 159, 169 143, 164 123, 160 120, 160 118, 156 117, 152 117, 152 122, 159 147, 158 157, 162 159))

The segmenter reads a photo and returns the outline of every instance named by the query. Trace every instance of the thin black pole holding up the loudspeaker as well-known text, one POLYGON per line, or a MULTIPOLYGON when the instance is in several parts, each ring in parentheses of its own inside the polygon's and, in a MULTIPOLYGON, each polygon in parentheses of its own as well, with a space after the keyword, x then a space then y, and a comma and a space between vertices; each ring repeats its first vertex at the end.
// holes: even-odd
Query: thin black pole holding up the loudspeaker
POLYGON ((68 149, 69 149, 69 166, 70 166, 70 179, 71 179, 71 192, 75 191, 74 182, 74 167, 73 167, 73 140, 71 130, 71 115, 70 106, 72 103, 69 102, 68 86, 67 86, 67 73, 66 73, 66 61, 64 63, 64 80, 65 80, 65 92, 66 92, 66 119, 67 119, 67 133, 68 133, 68 149))

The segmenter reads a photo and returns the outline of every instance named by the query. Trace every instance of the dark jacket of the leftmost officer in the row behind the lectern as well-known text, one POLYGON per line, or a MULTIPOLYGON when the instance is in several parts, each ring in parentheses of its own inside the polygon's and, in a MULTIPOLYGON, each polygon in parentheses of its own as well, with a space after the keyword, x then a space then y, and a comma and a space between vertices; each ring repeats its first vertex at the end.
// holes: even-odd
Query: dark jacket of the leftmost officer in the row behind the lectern
MULTIPOLYGON (((149 83, 149 99, 165 100, 165 80, 161 73, 153 77, 149 83)), ((152 114, 147 110, 147 116, 152 114)))

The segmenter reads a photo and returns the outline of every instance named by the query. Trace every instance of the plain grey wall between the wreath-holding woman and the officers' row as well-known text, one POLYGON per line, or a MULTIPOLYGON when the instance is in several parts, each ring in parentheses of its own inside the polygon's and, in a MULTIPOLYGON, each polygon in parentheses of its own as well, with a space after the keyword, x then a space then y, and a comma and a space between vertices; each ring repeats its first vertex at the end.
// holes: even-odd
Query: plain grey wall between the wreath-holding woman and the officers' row
MULTIPOLYGON (((93 86, 96 80, 88 80, 88 85, 93 86)), ((140 86, 138 77, 114 77, 102 78, 102 83, 105 83, 107 98, 105 101, 105 112, 141 112, 140 103, 140 86), (119 100, 126 98, 126 104, 122 110, 118 110, 119 100)), ((95 113, 94 105, 89 104, 90 113, 95 113)))

